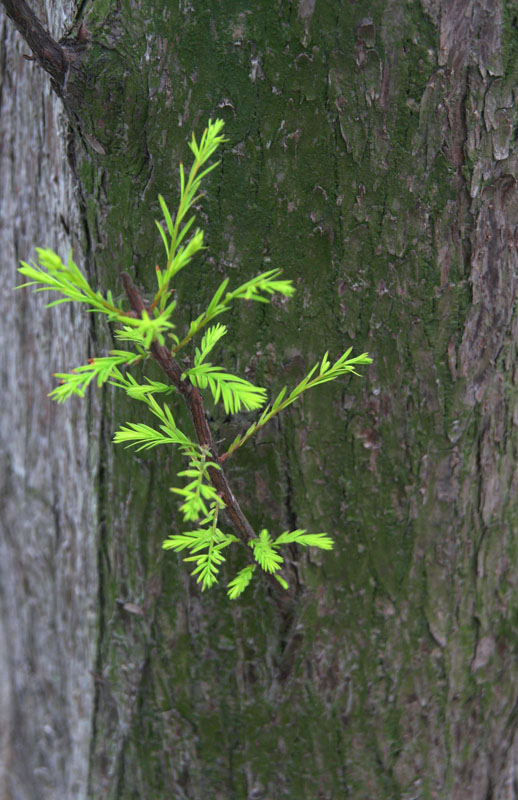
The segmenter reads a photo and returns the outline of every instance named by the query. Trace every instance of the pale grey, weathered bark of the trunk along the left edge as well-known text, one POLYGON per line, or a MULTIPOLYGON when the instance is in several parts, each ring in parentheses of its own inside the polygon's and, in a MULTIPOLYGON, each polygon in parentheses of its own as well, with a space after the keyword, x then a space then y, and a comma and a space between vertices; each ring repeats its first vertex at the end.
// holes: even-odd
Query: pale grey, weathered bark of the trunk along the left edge
MULTIPOLYGON (((61 35, 71 3, 33 3, 61 35)), ((78 249, 61 103, 0 8, 0 797, 86 797, 97 555, 88 405, 52 372, 88 356, 79 309, 45 309, 16 272, 34 245, 78 249), (69 235, 70 231, 70 235, 69 235)), ((92 456, 94 456, 93 450, 92 456)))

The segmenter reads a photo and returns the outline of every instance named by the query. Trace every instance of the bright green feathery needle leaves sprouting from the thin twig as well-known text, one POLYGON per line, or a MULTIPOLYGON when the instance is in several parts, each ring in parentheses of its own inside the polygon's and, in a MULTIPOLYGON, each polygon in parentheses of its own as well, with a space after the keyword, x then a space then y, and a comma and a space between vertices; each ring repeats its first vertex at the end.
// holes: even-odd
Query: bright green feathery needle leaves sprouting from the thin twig
POLYGON ((37 263, 21 262, 19 271, 29 279, 22 287, 35 286, 35 291, 52 291, 60 295, 49 306, 66 302, 86 303, 89 311, 105 314, 109 322, 115 324, 115 336, 132 348, 111 350, 107 356, 89 359, 88 364, 76 367, 70 373, 56 373, 59 383, 50 396, 58 403, 72 395, 82 397, 90 383, 96 381, 98 386, 108 383, 147 406, 148 412, 157 420, 156 426, 147 422, 127 422, 115 433, 114 441, 135 447, 137 451, 150 450, 158 445, 175 445, 180 449, 187 461, 186 468, 178 473, 184 483, 183 486, 172 487, 171 492, 181 499, 179 510, 184 522, 192 529, 173 532, 164 541, 163 547, 165 550, 187 553, 184 560, 194 565, 192 574, 205 590, 218 582, 226 549, 233 544, 244 546, 243 552, 250 563, 239 570, 227 588, 228 597, 234 600, 244 592, 257 571, 273 576, 283 588, 288 587, 282 574, 283 546, 296 544, 331 550, 333 541, 325 533, 306 533, 302 529, 285 531, 275 539, 265 528, 258 536, 255 535, 228 488, 222 463, 308 389, 348 373, 357 375, 356 367, 370 364, 371 359, 366 353, 351 358, 349 348, 332 363, 326 352, 295 388, 288 391, 284 387, 266 408, 266 389, 207 360, 209 355, 212 358, 227 334, 227 328, 222 323, 210 326, 209 323, 228 311, 234 301, 268 303, 274 294, 284 297, 293 295, 293 284, 280 277, 280 269, 267 270, 232 290, 228 289, 229 279, 225 278, 207 308, 190 321, 186 330, 177 332, 175 310, 178 298, 176 294, 174 299, 172 297, 173 282, 180 270, 185 269, 203 249, 203 231, 194 228, 194 206, 200 198, 203 178, 219 163, 207 166, 209 158, 225 142, 222 130, 223 122, 215 120, 209 122, 199 143, 193 134, 189 147, 194 161, 188 174, 180 164, 180 199, 174 215, 164 198, 161 195, 158 197, 163 220, 156 224, 164 244, 165 264, 162 268, 156 267, 157 290, 149 304, 144 303, 128 276, 125 288, 131 310, 117 304, 110 292, 104 296, 92 289, 71 255, 65 264, 51 250, 37 248, 37 263), (194 347, 191 361, 187 362, 192 366, 181 368, 176 361, 177 354, 203 329, 201 342, 194 347), (149 358, 159 363, 169 379, 168 383, 148 377, 143 378, 143 383, 137 382, 130 370, 137 363, 145 366, 149 358), (210 392, 214 403, 223 403, 227 414, 263 409, 221 457, 207 429, 202 401, 206 390, 210 392), (156 398, 158 395, 172 396, 173 405, 159 403, 156 398), (178 395, 183 397, 191 412, 195 439, 177 423, 176 410, 173 415, 172 408, 175 409, 178 395), (220 513, 225 509, 238 535, 219 527, 220 513))

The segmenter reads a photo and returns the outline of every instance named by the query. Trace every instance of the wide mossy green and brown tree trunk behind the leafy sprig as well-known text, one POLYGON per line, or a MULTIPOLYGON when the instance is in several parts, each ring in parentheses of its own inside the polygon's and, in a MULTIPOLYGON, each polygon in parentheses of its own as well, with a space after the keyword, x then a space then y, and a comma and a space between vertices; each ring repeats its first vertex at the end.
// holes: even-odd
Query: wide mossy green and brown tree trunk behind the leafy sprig
MULTIPOLYGON (((177 524, 175 457, 113 447, 116 426, 141 412, 119 395, 105 392, 99 408, 93 397, 93 406, 51 407, 50 372, 85 360, 85 318, 43 313, 29 294, 17 296, 20 310, 6 295, 9 353, 13 330, 21 352, 6 417, 20 442, 2 543, 13 661, 2 703, 16 725, 25 720, 18 740, 46 747, 45 715, 56 709, 81 719, 81 731, 91 718, 92 798, 518 798, 515 4, 170 6, 88 4, 87 49, 58 81, 78 182, 78 260, 103 290, 120 294, 128 269, 152 289, 157 195, 174 207, 191 131, 221 116, 229 142, 199 212, 207 255, 182 273, 181 304, 196 315, 224 275, 237 284, 281 266, 295 298, 236 309, 225 320, 228 365, 275 395, 326 350, 352 345, 374 364, 361 381, 327 384, 292 406, 229 469, 257 530, 326 530, 336 541, 333 553, 293 555, 295 591, 280 613, 266 582, 231 603, 223 589, 202 594, 162 551, 177 524), (61 326, 52 341, 49 325, 61 326), (49 348, 64 337, 79 349, 67 344, 55 365, 49 348), (36 359, 31 348, 45 341, 36 359), (16 402, 20 385, 27 407, 16 402), (60 438, 45 450, 51 422, 60 438), (63 538, 47 541, 56 508, 63 538), (63 633, 65 611, 74 620, 60 648, 50 633, 31 638, 35 597, 38 635, 63 633), (49 665, 66 702, 62 686, 45 688, 49 665), (77 717, 72 686, 86 698, 77 717)), ((17 97, 5 75, 4 107, 17 97)), ((20 124, 14 109, 9 117, 20 124)), ((52 147, 62 147, 57 133, 52 147)), ((12 169, 2 158, 1 174, 12 169)), ((48 243, 49 228, 57 236, 45 216, 52 184, 39 183, 39 202, 13 212, 27 228, 9 257, 4 247, 12 269, 33 243, 48 243)), ((14 238, 12 229, 3 235, 14 238)), ((95 337, 96 352, 109 347, 108 331, 95 337)), ((214 411, 213 424, 226 439, 246 420, 214 411)), ((70 786, 59 781, 70 781, 73 758, 84 794, 79 730, 46 751, 64 766, 35 750, 26 796, 55 796, 38 778, 42 765, 49 787, 70 786)), ((4 751, 16 758, 9 742, 4 751)))

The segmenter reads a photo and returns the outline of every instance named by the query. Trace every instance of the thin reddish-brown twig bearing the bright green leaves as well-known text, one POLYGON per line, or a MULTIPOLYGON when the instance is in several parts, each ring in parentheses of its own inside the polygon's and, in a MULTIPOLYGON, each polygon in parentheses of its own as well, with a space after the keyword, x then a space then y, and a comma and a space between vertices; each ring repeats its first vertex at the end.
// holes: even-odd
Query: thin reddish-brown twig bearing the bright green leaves
MULTIPOLYGON (((128 297, 129 303, 133 311, 138 316, 142 316, 143 311, 147 311, 144 301, 140 293, 135 289, 131 282, 130 276, 127 272, 121 274, 121 282, 128 297)), ((196 437, 202 447, 206 447, 211 455, 211 459, 218 465, 221 464, 218 451, 212 438, 212 432, 207 421, 207 415, 203 407, 203 400, 198 389, 193 386, 189 381, 182 380, 182 372, 180 365, 173 358, 167 347, 153 342, 150 348, 150 353, 165 372, 171 383, 178 389, 182 395, 196 431, 196 437)), ((209 467, 208 469, 212 485, 225 503, 226 514, 234 527, 234 530, 243 540, 247 543, 250 539, 255 538, 255 531, 248 522, 247 518, 241 511, 239 503, 237 502, 232 489, 228 483, 227 477, 223 469, 215 469, 209 467)))

